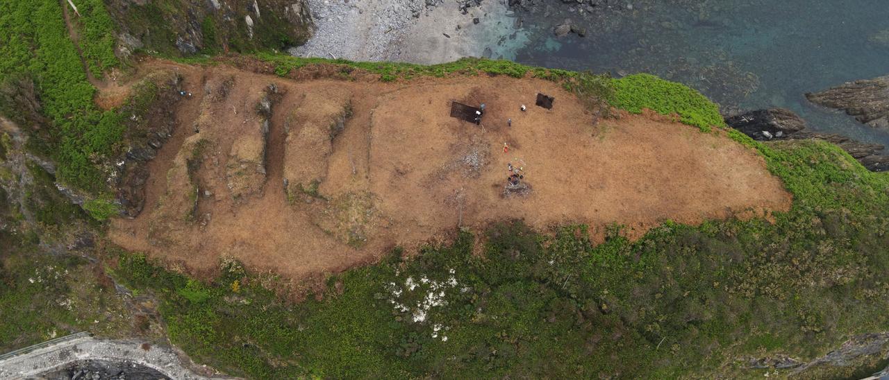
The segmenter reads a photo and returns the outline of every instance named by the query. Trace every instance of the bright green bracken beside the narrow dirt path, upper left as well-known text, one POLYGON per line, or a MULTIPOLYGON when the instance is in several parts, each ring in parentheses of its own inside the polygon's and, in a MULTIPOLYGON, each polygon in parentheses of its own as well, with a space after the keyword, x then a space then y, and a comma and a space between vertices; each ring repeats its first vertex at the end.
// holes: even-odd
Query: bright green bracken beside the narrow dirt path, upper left
MULTIPOLYGON (((84 3, 89 4, 89 3, 84 3)), ((100 14, 100 7, 87 7, 100 14)), ((96 21, 105 25, 101 20, 96 21)), ((97 35, 108 33, 104 27, 90 27, 97 35)), ((93 32, 90 32, 93 33, 93 32)), ((93 67, 114 64, 101 39, 87 44, 93 67)), ((40 99, 39 111, 48 119, 44 139, 32 139, 32 147, 52 156, 59 164, 58 176, 70 185, 91 191, 105 189, 106 175, 96 160, 106 157, 123 133, 120 116, 101 111, 92 102, 95 88, 87 82, 76 48, 68 38, 59 2, 52 0, 11 1, 0 4, 0 88, 18 91, 33 81, 40 99), (24 83, 23 83, 24 81, 24 83), (12 88, 12 89, 11 89, 12 88)), ((113 57, 113 53, 111 54, 113 57)), ((36 102, 36 99, 33 99, 36 102)), ((14 108, 33 109, 28 99, 16 99, 14 108)), ((13 109, 14 109, 13 108, 13 109)), ((7 112, 10 110, 7 109, 7 112)), ((17 116, 11 116, 17 117, 17 116)), ((41 121, 35 121, 37 123, 41 121)))

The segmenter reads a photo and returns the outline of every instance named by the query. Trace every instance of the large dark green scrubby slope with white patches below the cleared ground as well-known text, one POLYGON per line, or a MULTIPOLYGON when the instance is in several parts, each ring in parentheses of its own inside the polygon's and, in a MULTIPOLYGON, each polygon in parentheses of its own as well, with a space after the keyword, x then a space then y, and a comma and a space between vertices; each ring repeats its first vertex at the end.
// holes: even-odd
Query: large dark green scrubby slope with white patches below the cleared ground
POLYGON ((798 186, 797 205, 774 224, 667 223, 639 241, 614 227, 594 245, 584 226, 538 234, 507 223, 486 234, 483 257, 461 234, 331 277, 323 300, 298 304, 243 270, 198 284, 122 253, 116 275, 162 296, 186 352, 257 378, 762 376, 735 359, 813 359, 889 326, 886 176, 821 142, 771 149, 797 168, 793 183, 848 172, 829 183, 832 194, 861 197, 869 210, 798 186))

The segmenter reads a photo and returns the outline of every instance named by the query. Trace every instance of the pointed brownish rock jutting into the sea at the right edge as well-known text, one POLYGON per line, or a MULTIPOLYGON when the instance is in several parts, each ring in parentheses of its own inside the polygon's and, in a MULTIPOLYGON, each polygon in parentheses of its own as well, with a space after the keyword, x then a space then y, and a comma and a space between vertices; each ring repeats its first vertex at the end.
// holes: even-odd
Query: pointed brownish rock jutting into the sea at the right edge
POLYGON ((889 75, 810 92, 805 98, 824 107, 842 109, 871 127, 889 128, 889 75))

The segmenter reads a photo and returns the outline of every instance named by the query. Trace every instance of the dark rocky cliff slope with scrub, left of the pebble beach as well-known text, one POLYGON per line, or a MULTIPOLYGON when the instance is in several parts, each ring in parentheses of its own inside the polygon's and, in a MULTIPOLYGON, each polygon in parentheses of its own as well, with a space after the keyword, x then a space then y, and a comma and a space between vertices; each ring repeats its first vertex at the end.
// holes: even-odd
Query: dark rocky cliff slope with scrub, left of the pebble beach
POLYGON ((120 0, 106 2, 116 21, 117 52, 284 49, 303 44, 313 22, 305 0, 120 0))

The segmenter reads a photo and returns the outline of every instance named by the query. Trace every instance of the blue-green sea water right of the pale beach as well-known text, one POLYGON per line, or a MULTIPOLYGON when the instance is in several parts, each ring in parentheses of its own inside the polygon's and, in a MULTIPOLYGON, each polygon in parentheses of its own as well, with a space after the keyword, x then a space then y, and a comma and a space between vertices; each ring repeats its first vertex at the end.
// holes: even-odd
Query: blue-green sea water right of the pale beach
POLYGON ((889 75, 889 0, 610 1, 620 11, 552 4, 519 13, 532 42, 517 60, 626 75, 650 72, 716 100, 725 112, 786 107, 814 131, 889 146, 889 131, 809 103, 805 92, 889 75), (632 4, 632 10, 627 9, 632 4), (565 18, 588 35, 555 37, 565 18))

